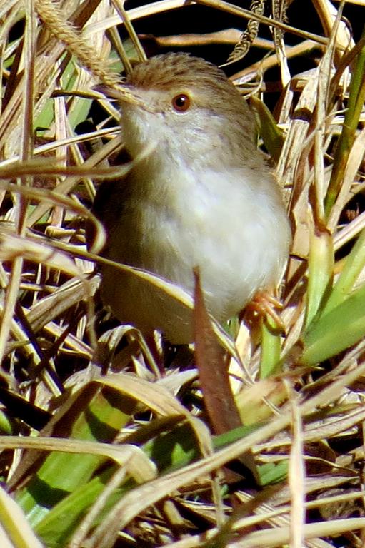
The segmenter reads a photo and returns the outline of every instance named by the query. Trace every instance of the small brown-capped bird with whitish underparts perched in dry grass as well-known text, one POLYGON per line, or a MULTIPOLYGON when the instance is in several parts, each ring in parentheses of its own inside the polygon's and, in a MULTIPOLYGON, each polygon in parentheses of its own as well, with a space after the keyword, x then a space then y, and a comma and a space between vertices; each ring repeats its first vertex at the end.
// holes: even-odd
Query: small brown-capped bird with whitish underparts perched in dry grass
MULTIPOLYGON (((191 296, 199 269, 206 308, 224 323, 279 284, 291 243, 254 115, 224 71, 185 53, 142 61, 121 85, 121 133, 132 163, 96 193, 102 253, 191 296)), ((194 341, 191 310, 131 272, 102 265, 101 298, 142 333, 194 341)))

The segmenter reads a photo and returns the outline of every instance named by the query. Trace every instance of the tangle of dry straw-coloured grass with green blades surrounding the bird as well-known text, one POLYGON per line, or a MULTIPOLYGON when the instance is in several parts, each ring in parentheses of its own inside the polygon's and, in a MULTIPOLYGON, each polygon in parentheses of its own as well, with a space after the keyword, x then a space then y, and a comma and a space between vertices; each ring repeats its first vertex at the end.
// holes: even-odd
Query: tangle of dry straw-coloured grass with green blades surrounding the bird
MULTIPOLYGON (((232 76, 257 98, 270 90, 266 71, 280 64, 278 126, 253 103, 277 160, 294 244, 282 286, 286 336, 267 325, 262 345, 245 325, 235 344, 221 335, 244 427, 216 439, 204 423, 196 370, 179 361, 161 378, 136 330, 95 315, 96 256, 86 252, 84 221, 96 225, 95 253, 104 233, 87 205, 96 181, 123 169, 104 163, 120 148, 117 122, 114 130, 103 122, 93 133, 75 132, 93 86, 116 85, 121 64, 116 55, 109 61, 111 50, 125 64, 143 58, 134 21, 186 8, 164 0, 124 14, 116 0, 84 4, 66 0, 59 13, 45 0, 0 3, 0 444, 16 501, 1 489, 4 546, 325 548, 334 539, 363 546, 364 41, 354 44, 338 5, 316 0, 323 35, 281 21, 276 52, 256 39, 267 55, 232 76), (123 14, 129 41, 115 31, 123 14), (296 46, 286 46, 291 32, 301 38, 296 46), (315 68, 291 74, 288 60, 310 51, 315 68), (86 143, 101 137, 86 159, 86 143), (118 373, 98 377, 96 350, 105 365, 117 345, 118 373), (116 431, 121 445, 101 444, 116 431), (261 489, 243 481, 228 496, 216 471, 249 450, 261 489)), ((244 28, 245 10, 201 4, 236 15, 244 28)), ((156 44, 233 49, 239 34, 220 29, 156 44)))

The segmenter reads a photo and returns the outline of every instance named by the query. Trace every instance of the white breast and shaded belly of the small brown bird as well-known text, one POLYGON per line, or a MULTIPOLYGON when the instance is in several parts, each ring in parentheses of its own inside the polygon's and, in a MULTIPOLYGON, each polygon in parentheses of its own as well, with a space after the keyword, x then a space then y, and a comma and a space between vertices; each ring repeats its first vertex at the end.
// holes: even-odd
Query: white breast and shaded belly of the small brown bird
MULTIPOLYGON (((139 203, 110 234, 108 258, 156 273, 194 295, 198 267, 204 300, 220 322, 238 313, 261 289, 276 285, 289 247, 284 208, 270 212, 265 196, 218 188, 174 208, 139 203), (179 215, 176 211, 181 212, 179 215), (265 214, 264 214, 265 212, 265 214)), ((153 284, 112 267, 103 268, 101 295, 123 323, 159 329, 171 342, 193 339, 191 311, 153 284)))

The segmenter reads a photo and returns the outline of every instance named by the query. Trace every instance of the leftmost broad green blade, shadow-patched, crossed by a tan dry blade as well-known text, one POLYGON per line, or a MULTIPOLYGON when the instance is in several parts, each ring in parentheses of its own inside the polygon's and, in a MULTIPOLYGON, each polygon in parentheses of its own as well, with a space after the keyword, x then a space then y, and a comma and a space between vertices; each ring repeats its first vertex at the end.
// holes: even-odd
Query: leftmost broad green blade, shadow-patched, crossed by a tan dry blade
MULTIPOLYGON (((81 390, 69 410, 54 427, 52 434, 63 437, 65 425, 72 420, 69 437, 79 440, 112 441, 126 422, 130 420, 134 402, 113 390, 89 385, 81 390)), ((78 455, 67 452, 51 452, 44 458, 29 483, 16 494, 16 500, 26 512, 29 522, 36 524, 48 514, 49 509, 67 494, 85 484, 101 464, 100 455, 78 455)))

